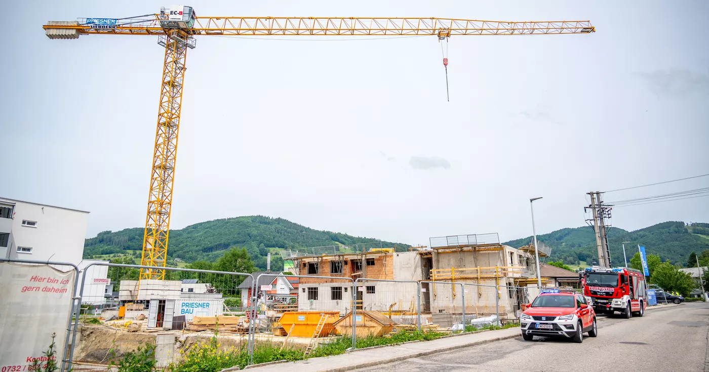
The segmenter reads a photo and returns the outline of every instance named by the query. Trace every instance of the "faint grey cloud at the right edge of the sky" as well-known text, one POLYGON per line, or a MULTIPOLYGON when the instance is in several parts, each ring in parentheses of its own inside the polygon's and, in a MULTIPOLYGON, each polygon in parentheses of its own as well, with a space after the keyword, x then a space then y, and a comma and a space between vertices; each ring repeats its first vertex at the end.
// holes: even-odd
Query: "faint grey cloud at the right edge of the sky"
POLYGON ((688 69, 657 70, 640 72, 650 90, 658 97, 686 97, 691 94, 709 93, 709 73, 688 69))

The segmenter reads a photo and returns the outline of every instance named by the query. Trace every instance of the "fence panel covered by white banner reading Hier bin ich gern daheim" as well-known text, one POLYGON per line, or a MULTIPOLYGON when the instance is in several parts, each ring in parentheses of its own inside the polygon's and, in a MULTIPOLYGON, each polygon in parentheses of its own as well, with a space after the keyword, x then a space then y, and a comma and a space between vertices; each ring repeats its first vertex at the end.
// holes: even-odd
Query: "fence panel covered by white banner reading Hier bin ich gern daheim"
POLYGON ((54 261, 0 259, 0 367, 3 371, 65 368, 79 269, 54 261), (55 359, 43 359, 54 343, 55 359), (60 360, 60 363, 57 362, 60 360), (39 366, 35 366, 35 363, 39 366), (30 369, 28 369, 30 368, 30 369))

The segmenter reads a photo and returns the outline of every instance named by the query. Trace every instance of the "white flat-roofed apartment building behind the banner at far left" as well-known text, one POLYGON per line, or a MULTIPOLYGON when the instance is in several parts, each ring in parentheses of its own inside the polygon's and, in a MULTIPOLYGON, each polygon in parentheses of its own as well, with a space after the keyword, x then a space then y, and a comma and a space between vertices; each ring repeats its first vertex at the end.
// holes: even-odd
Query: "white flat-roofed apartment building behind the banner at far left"
POLYGON ((89 212, 0 198, 0 257, 79 264, 89 212))

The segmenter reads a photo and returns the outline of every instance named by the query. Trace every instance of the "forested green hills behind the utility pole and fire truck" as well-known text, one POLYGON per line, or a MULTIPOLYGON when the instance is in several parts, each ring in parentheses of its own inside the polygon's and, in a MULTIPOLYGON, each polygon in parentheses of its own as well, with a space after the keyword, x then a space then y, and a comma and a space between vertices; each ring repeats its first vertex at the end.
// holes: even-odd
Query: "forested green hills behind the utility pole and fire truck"
MULTIPOLYGON (((640 230, 625 231, 617 227, 608 230, 608 245, 613 266, 623 265, 623 246, 627 259, 630 260, 637 252, 637 244, 645 247, 648 254, 659 254, 664 261, 669 259, 673 264, 685 264, 691 252, 702 252, 709 249, 709 239, 702 236, 709 232, 708 224, 693 223, 686 226, 684 222, 662 222, 644 227, 640 230)), ((564 264, 576 264, 578 261, 591 264, 591 257, 596 257, 596 237, 593 227, 584 226, 565 228, 537 235, 537 240, 552 247, 552 260, 562 260, 564 264)), ((522 247, 529 244, 532 237, 510 240, 504 244, 512 247, 522 247)))

